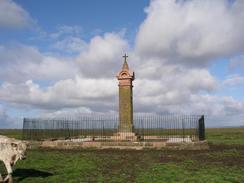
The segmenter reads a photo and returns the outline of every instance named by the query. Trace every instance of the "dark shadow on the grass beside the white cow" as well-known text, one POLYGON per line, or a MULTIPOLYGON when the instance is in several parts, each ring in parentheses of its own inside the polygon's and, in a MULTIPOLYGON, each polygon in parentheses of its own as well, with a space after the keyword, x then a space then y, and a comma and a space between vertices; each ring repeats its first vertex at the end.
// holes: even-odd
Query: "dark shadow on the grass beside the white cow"
POLYGON ((52 176, 53 173, 35 170, 35 169, 25 169, 25 168, 18 168, 13 172, 13 177, 16 177, 18 181, 24 180, 28 177, 49 177, 52 176))

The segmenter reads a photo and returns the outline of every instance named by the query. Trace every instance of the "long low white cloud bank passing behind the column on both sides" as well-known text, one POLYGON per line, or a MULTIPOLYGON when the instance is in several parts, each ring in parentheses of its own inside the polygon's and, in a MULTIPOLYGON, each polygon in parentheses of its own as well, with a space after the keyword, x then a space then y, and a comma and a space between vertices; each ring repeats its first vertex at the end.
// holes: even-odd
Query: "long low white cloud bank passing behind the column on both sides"
MULTIPOLYGON (((193 70, 187 74, 181 72, 160 80, 136 79, 135 109, 140 111, 143 106, 149 106, 153 112, 161 110, 163 106, 188 104, 193 94, 214 90, 215 82, 205 70, 193 70)), ((83 106, 93 111, 109 111, 117 110, 117 90, 117 81, 113 76, 108 79, 89 79, 77 75, 75 79, 60 80, 45 89, 31 80, 22 84, 5 82, 0 88, 0 99, 42 109, 83 106)))

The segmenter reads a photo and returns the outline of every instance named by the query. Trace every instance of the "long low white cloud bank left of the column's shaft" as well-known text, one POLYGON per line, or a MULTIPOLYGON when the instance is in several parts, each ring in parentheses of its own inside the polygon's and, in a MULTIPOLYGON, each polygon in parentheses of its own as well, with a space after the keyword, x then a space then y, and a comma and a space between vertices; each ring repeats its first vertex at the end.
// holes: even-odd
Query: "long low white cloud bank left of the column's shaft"
POLYGON ((100 110, 106 110, 109 106, 114 106, 115 93, 114 80, 76 76, 75 79, 60 80, 47 88, 40 87, 32 80, 19 84, 4 82, 0 88, 0 100, 39 109, 83 106, 94 110, 104 107, 100 110))

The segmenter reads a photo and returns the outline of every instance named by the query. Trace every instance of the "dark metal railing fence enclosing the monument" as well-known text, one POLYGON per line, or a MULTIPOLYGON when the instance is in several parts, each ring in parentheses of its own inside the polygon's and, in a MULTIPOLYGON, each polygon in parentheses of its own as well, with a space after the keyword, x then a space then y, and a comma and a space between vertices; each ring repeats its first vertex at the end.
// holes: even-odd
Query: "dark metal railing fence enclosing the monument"
MULTIPOLYGON (((133 132, 138 141, 205 139, 204 116, 200 115, 135 115, 133 125, 133 132)), ((111 115, 24 118, 23 139, 131 140, 128 134, 120 133, 118 129, 119 118, 111 115), (121 137, 123 134, 125 138, 121 137)))

